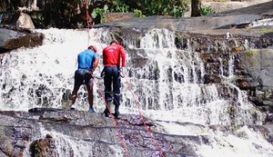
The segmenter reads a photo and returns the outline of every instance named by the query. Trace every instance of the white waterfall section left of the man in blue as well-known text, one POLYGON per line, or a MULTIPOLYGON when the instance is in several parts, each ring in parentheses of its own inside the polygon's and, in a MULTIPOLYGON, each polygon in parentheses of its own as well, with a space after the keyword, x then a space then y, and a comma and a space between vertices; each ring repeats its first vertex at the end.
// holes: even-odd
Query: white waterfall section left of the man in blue
MULTIPOLYGON (((86 31, 36 31, 45 34, 42 46, 1 54, 1 110, 25 111, 42 106, 62 108, 69 99, 76 55, 87 48, 86 31)), ((90 44, 96 44, 92 42, 90 44)), ((100 47, 98 49, 101 51, 100 47)), ((79 91, 77 103, 79 107, 87 108, 84 94, 84 90, 79 91)))

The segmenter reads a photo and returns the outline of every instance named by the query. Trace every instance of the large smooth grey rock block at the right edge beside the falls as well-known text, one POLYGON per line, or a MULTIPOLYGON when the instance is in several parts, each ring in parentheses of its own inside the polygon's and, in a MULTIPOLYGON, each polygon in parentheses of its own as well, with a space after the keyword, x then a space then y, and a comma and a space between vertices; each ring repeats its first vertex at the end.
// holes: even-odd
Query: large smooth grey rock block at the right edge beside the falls
POLYGON ((273 104, 273 50, 250 49, 240 53, 240 67, 244 75, 238 86, 249 91, 249 99, 258 104, 272 107, 273 104))

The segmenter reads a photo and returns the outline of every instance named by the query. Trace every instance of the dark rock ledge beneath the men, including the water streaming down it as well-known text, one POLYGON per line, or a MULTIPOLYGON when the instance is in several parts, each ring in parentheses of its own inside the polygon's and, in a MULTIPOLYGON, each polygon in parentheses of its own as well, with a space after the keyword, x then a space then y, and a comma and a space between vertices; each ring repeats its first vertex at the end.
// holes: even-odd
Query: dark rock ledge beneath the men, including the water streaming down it
POLYGON ((194 145, 207 137, 167 135, 155 132, 157 125, 146 119, 144 129, 139 115, 121 114, 115 120, 103 113, 86 113, 54 109, 25 112, 0 112, 0 154, 2 156, 75 156, 80 153, 104 156, 125 155, 122 141, 130 156, 197 156, 194 145), (119 133, 120 140, 116 134, 119 133), (191 141, 191 142, 188 142, 191 141), (82 149, 85 152, 80 152, 82 149))

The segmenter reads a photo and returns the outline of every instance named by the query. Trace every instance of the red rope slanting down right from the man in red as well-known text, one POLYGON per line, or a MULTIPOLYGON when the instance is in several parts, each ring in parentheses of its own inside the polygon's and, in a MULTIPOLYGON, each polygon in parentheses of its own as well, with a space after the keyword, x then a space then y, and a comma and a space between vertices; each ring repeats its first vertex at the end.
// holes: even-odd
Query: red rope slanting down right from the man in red
POLYGON ((138 102, 137 99, 136 99, 135 93, 133 93, 131 83, 128 82, 128 79, 127 79, 127 77, 126 77, 126 74, 125 74, 123 71, 122 71, 122 74, 125 76, 125 79, 126 79, 126 83, 127 83, 127 85, 128 85, 128 88, 129 88, 130 92, 131 92, 132 95, 133 95, 133 98, 134 98, 134 101, 135 101, 135 103, 136 103, 136 106, 137 106, 137 110, 138 110, 140 119, 142 120, 142 122, 143 122, 143 124, 144 124, 144 128, 145 128, 145 130, 147 131, 147 134, 150 136, 151 141, 154 142, 154 144, 155 144, 157 150, 160 152, 160 155, 161 155, 162 157, 165 157, 165 155, 164 155, 163 152, 162 152, 162 149, 161 149, 160 146, 157 144, 157 142, 156 142, 156 140, 154 139, 152 133, 149 132, 149 129, 148 129, 148 127, 147 127, 147 124, 146 124, 146 122, 145 122, 145 119, 144 119, 142 113, 140 112, 140 107, 139 107, 140 104, 139 104, 139 102, 138 102))

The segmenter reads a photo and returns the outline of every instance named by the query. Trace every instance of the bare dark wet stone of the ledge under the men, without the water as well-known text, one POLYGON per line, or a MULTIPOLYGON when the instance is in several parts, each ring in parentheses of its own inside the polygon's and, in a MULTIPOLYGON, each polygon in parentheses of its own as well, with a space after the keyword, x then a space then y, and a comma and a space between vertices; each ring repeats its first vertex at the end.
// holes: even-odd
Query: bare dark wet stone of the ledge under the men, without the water
MULTIPOLYGON (((105 148, 100 153, 112 152, 111 147, 113 144, 121 148, 111 119, 106 118, 103 113, 34 108, 29 113, 0 112, 0 120, 2 120, 0 129, 5 129, 7 132, 8 130, 12 131, 4 135, 7 140, 5 143, 15 142, 15 145, 10 145, 16 150, 13 152, 14 155, 16 154, 15 156, 20 156, 19 154, 27 148, 26 143, 31 143, 29 151, 32 156, 42 154, 57 156, 56 135, 47 133, 45 137, 41 137, 41 126, 43 126, 43 130, 50 131, 53 129, 55 132, 60 132, 66 136, 76 137, 76 139, 86 142, 95 142, 99 144, 96 148, 105 148), (7 116, 8 118, 6 118, 7 116), (37 119, 36 117, 40 118, 37 119), (3 122, 4 118, 5 123, 3 122), (8 125, 6 125, 7 123, 8 125)), ((156 124, 145 117, 142 119, 139 115, 121 114, 120 118, 116 119, 116 124, 119 128, 118 132, 128 145, 130 156, 153 156, 152 154, 158 152, 155 143, 151 141, 150 136, 147 134, 145 126, 167 156, 172 157, 177 154, 196 156, 193 146, 188 141, 193 143, 202 142, 197 136, 167 135, 154 132, 153 128, 156 127, 156 124), (144 124, 144 122, 146 123, 144 124)), ((2 137, 3 134, 1 134, 0 138, 2 137)), ((0 149, 5 150, 6 148, 7 145, 1 142, 0 149)))

